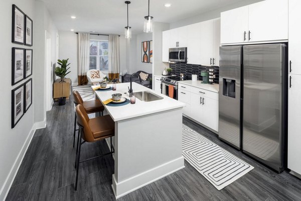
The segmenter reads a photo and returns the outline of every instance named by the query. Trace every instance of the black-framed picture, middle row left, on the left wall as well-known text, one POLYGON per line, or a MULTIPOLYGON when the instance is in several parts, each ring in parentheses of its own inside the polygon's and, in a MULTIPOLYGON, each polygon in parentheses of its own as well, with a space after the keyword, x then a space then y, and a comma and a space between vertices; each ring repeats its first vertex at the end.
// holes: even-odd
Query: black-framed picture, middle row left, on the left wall
POLYGON ((12 85, 24 79, 24 55, 25 49, 12 49, 12 85))

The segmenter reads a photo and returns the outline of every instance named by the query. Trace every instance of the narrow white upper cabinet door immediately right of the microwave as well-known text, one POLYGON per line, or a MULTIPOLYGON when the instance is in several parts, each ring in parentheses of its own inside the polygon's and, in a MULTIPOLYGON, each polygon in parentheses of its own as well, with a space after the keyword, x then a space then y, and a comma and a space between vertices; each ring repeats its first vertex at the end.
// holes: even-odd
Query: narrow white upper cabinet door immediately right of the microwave
POLYGON ((187 26, 187 63, 200 64, 200 23, 187 26))

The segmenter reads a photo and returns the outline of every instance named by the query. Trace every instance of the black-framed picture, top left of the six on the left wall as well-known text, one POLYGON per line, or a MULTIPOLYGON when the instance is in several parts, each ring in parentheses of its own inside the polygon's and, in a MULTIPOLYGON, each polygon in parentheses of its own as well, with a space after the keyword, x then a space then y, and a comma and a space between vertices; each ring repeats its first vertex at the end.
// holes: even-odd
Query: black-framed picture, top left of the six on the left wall
POLYGON ((13 4, 12 42, 24 44, 25 14, 13 4))

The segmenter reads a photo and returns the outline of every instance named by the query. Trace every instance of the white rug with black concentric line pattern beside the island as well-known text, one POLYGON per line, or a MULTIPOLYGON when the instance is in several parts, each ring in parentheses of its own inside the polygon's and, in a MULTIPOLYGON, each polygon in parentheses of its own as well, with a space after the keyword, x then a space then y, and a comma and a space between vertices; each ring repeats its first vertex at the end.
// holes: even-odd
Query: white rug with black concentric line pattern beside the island
POLYGON ((218 190, 254 168, 184 124, 182 154, 218 190))

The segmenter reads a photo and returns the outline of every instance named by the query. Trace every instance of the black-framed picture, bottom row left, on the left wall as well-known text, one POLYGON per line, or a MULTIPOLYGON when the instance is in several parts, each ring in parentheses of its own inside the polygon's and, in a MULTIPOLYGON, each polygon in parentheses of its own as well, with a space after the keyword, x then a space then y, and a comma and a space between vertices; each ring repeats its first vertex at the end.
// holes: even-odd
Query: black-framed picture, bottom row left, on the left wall
POLYGON ((24 115, 24 84, 12 90, 12 128, 24 115))

